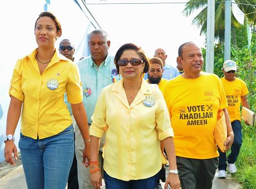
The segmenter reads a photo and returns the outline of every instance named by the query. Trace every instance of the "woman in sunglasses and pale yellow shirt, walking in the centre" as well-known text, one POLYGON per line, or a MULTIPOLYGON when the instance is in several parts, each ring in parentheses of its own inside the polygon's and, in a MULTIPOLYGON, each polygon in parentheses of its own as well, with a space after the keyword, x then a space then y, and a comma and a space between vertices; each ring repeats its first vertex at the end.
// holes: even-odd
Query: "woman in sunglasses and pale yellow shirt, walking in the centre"
POLYGON ((160 140, 173 170, 165 188, 168 184, 180 188, 173 130, 163 94, 142 79, 148 71, 147 57, 139 47, 128 43, 116 52, 115 64, 123 79, 102 90, 90 126, 92 185, 98 189, 101 186, 98 149, 100 137, 106 132, 104 180, 107 189, 156 188, 164 160, 160 140))

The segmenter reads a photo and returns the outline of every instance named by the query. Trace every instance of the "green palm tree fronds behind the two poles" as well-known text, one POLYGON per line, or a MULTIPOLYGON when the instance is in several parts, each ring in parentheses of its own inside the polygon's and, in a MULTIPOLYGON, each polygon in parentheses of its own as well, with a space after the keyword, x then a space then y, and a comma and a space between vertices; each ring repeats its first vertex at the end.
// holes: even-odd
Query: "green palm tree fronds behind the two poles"
MULTIPOLYGON (((252 6, 256 4, 256 0, 236 0, 239 8, 245 13, 250 13, 246 15, 248 21, 251 25, 256 25, 256 8, 252 6), (241 3, 241 4, 239 4, 241 3), (249 4, 249 5, 247 5, 249 4), (252 4, 252 5, 251 5, 252 4), (252 13, 255 12, 255 13, 252 13)), ((201 27, 200 34, 206 34, 207 28, 207 0, 190 0, 186 3, 186 6, 183 10, 183 13, 186 16, 191 15, 196 10, 201 10, 198 15, 193 19, 192 24, 195 24, 198 27, 201 27)), ((236 44, 236 30, 241 27, 241 24, 232 15, 231 17, 231 30, 232 30, 232 44, 236 44)), ((215 3, 215 38, 220 40, 221 43, 224 42, 225 36, 225 0, 216 0, 215 3)))

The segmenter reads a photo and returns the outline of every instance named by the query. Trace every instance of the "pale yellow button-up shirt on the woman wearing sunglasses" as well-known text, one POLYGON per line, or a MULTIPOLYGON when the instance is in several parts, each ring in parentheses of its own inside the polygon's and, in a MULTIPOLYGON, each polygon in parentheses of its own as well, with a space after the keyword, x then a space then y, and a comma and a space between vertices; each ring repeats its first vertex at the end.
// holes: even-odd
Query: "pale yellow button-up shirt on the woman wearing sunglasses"
POLYGON ((102 137, 104 170, 123 181, 146 179, 162 167, 159 140, 173 137, 170 117, 159 89, 145 80, 129 105, 123 80, 105 87, 92 116, 90 135, 102 137))

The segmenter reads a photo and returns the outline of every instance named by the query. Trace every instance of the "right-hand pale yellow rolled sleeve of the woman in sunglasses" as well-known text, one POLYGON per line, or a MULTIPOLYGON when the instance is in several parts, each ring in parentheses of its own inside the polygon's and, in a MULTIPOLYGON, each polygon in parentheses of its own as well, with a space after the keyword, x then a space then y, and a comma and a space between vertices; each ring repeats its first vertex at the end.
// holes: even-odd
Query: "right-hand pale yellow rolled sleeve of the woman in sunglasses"
POLYGON ((159 94, 158 107, 156 111, 156 123, 158 139, 164 140, 168 137, 173 137, 173 129, 170 121, 169 112, 164 101, 163 94, 159 94))

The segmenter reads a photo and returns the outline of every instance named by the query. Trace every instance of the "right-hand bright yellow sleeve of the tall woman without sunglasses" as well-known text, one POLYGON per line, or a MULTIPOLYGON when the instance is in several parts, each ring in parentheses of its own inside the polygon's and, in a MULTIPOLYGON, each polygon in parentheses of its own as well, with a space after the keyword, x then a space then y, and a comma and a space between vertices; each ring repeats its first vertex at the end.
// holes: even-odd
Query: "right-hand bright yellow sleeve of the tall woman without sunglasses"
POLYGON ((83 100, 83 88, 77 65, 70 64, 67 83, 67 98, 70 103, 80 103, 83 100))

